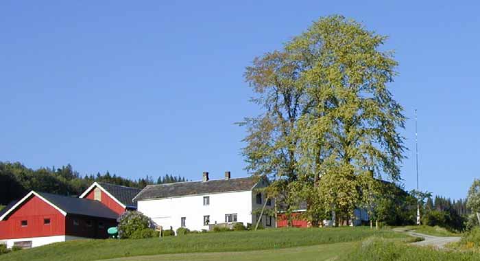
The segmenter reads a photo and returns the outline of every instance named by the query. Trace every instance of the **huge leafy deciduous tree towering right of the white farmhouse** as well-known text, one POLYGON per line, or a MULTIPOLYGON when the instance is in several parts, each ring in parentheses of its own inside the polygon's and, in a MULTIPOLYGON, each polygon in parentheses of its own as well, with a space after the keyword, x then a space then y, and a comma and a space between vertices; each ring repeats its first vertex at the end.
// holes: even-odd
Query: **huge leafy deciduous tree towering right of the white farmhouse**
POLYGON ((397 63, 381 50, 385 39, 327 16, 245 73, 263 108, 245 121, 247 169, 282 184, 287 205, 304 197, 313 223, 372 205, 374 176, 400 179, 405 117, 387 88, 397 63))

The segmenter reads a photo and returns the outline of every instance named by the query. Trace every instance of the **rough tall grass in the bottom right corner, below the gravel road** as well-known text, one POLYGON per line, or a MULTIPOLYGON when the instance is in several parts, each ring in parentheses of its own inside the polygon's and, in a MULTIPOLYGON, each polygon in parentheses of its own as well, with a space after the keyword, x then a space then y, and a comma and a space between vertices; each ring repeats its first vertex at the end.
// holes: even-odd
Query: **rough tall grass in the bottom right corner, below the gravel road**
POLYGON ((437 251, 427 247, 413 247, 403 242, 392 242, 374 237, 364 240, 357 245, 356 249, 348 253, 339 261, 362 260, 362 261, 470 261, 479 260, 478 253, 437 251))

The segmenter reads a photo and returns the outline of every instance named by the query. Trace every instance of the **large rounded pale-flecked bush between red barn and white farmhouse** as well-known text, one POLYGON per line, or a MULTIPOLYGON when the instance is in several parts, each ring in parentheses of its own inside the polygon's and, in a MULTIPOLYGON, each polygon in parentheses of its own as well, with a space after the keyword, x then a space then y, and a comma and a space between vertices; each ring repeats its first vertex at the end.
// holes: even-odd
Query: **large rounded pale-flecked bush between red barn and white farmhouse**
POLYGON ((156 227, 152 219, 138 211, 123 212, 117 221, 119 223, 119 238, 130 238, 136 231, 156 227))

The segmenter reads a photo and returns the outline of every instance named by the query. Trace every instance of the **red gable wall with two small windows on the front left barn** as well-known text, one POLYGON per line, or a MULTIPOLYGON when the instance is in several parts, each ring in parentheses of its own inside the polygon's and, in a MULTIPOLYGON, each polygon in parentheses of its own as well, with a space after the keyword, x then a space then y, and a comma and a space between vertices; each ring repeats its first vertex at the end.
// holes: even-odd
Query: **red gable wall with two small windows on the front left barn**
POLYGON ((6 220, 0 221, 0 239, 62 236, 64 233, 65 216, 34 195, 6 220), (44 218, 50 218, 49 225, 43 224, 44 218), (27 220, 26 227, 21 226, 22 220, 27 220))

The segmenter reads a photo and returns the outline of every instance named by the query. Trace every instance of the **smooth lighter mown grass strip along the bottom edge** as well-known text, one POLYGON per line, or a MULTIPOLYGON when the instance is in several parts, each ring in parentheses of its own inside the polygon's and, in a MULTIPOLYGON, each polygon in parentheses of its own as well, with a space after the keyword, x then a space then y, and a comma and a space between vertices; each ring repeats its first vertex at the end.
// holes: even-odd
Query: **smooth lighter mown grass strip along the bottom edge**
POLYGON ((155 256, 134 256, 103 261, 320 261, 335 260, 352 251, 355 242, 324 244, 309 247, 291 247, 286 249, 254 250, 241 252, 216 253, 173 253, 155 256))

